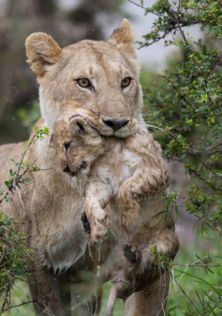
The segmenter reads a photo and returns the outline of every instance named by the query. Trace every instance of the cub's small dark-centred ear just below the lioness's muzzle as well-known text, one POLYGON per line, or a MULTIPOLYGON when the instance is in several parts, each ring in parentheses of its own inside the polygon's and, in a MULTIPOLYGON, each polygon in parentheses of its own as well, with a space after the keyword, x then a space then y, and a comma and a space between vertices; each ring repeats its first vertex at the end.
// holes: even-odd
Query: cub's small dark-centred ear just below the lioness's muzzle
POLYGON ((81 116, 72 116, 68 123, 68 132, 73 137, 80 133, 91 133, 88 122, 81 116))

